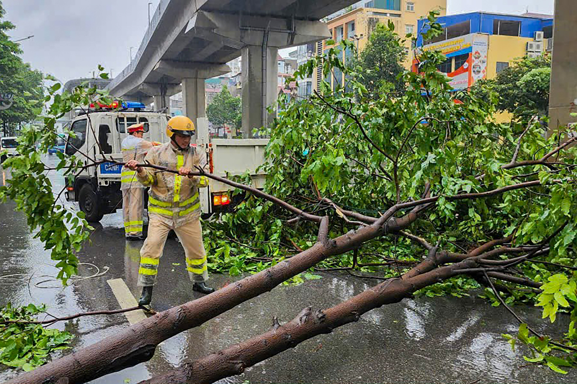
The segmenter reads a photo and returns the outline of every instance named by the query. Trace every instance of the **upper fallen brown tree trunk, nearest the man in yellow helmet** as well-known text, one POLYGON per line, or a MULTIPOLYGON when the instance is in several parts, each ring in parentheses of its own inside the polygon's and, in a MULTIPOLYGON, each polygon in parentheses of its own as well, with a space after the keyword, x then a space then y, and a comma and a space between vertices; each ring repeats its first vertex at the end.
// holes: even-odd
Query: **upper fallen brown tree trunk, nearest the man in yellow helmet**
POLYGON ((7 383, 85 383, 123 370, 152 358, 156 345, 175 334, 194 328, 242 302, 271 291, 290 277, 298 275, 329 256, 356 248, 386 230, 398 231, 409 226, 417 214, 410 212, 395 219, 389 215, 373 225, 350 231, 335 239, 328 238, 328 218, 323 218, 319 239, 311 248, 255 275, 245 277, 210 295, 158 313, 129 328, 89 345, 61 359, 36 368, 7 383))

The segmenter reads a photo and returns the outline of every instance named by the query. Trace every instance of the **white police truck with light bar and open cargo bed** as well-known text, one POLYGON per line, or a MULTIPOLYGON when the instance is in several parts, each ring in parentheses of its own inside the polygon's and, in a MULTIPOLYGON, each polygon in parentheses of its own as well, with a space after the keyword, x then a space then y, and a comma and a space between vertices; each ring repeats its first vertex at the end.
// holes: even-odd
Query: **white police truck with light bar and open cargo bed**
MULTIPOLYGON (((142 106, 144 107, 144 105, 142 106)), ((122 161, 121 142, 128 135, 126 127, 134 123, 144 123, 144 139, 166 143, 166 123, 169 115, 158 112, 143 111, 141 108, 122 111, 89 112, 74 118, 70 131, 76 137, 68 136, 65 155, 76 155, 84 164, 91 160, 107 159, 122 161)), ((257 172, 264 162, 264 148, 268 139, 210 139, 208 122, 205 118, 197 119, 197 135, 192 146, 201 151, 206 158, 205 170, 223 177, 250 173, 252 185, 264 186, 265 174, 257 172)), ((80 210, 92 222, 98 222, 103 215, 111 214, 122 208, 120 191, 121 166, 105 162, 83 170, 72 183, 66 182, 66 200, 77 201, 80 210)), ((208 188, 200 189, 200 203, 203 216, 213 212, 230 209, 234 204, 229 192, 234 189, 214 180, 209 181, 208 188)), ((146 204, 145 204, 146 205, 146 204)))

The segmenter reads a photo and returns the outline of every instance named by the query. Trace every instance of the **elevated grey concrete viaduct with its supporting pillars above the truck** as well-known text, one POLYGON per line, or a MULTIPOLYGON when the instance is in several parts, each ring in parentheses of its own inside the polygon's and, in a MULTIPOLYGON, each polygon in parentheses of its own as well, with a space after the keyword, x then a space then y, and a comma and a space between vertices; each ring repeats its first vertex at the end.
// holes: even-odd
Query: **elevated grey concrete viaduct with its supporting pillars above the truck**
POLYGON ((205 116, 204 81, 242 55, 242 131, 266 126, 277 97, 279 48, 326 39, 319 20, 354 0, 160 0, 132 62, 108 85, 115 97, 205 116))

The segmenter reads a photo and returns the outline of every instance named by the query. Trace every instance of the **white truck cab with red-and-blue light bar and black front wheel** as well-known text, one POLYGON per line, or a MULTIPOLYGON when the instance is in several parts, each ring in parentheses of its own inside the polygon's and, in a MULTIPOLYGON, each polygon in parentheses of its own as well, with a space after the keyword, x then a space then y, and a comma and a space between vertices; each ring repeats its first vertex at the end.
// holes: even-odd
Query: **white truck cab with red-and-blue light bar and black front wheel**
MULTIPOLYGON (((92 164, 91 159, 121 162, 121 143, 128 136, 126 128, 135 123, 144 123, 145 140, 166 143, 170 116, 142 111, 143 104, 132 104, 137 107, 121 111, 98 109, 74 118, 70 122, 74 136, 68 136, 64 154, 76 155, 84 165, 92 164)), ((80 210, 92 222, 116 212, 122 208, 121 169, 122 166, 110 161, 83 169, 71 183, 66 181, 66 200, 78 201, 80 210)))

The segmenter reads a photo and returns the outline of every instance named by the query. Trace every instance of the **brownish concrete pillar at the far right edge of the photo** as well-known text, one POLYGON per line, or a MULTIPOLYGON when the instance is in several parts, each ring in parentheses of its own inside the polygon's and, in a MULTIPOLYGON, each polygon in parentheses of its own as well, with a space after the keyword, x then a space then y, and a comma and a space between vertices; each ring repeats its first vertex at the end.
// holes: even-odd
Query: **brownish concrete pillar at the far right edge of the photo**
MULTIPOLYGON (((575 123, 577 105, 577 12, 575 0, 556 0, 553 24, 553 58, 549 94, 549 129, 575 123)), ((575 130, 571 130, 575 131, 575 130)))

